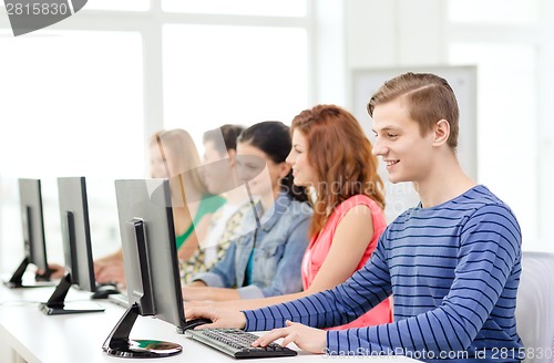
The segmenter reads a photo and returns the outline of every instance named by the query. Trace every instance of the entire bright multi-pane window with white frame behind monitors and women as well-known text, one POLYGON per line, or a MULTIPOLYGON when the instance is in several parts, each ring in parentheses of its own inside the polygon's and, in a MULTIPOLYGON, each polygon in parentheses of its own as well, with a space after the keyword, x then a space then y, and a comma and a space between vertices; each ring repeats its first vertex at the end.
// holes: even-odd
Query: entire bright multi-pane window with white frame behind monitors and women
POLYGON ((119 246, 113 179, 146 176, 153 132, 182 127, 198 141, 306 108, 307 3, 91 0, 18 38, 0 18, 0 271, 22 255, 19 177, 43 180, 50 259, 63 262, 57 178, 85 176, 99 257, 119 246))

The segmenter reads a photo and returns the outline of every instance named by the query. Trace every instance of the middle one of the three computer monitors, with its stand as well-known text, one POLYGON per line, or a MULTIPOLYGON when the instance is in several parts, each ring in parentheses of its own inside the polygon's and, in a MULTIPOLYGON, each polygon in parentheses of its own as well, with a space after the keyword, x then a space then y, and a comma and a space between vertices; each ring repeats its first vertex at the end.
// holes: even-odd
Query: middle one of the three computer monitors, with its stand
POLYGON ((79 302, 71 308, 65 303, 72 286, 91 292, 96 290, 84 177, 58 178, 58 198, 66 274, 40 308, 49 315, 104 311, 98 303, 79 302))

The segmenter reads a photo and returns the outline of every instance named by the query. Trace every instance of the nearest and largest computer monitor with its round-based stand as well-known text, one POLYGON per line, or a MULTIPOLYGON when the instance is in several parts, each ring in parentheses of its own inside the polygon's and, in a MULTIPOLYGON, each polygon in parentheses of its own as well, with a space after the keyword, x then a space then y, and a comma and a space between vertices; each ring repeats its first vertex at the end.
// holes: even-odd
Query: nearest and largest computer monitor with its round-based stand
POLYGON ((177 328, 185 324, 167 179, 115 180, 129 308, 102 349, 122 357, 178 354, 171 342, 130 340, 138 315, 153 315, 177 328))

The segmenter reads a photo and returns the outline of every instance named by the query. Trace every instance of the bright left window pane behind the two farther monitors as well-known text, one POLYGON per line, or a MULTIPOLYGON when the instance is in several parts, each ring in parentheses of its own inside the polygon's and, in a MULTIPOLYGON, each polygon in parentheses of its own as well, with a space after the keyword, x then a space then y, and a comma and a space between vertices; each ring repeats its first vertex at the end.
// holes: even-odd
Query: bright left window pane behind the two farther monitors
MULTIPOLYGON (((0 230, 9 241, 2 266, 22 253, 19 177, 43 182, 49 253, 63 263, 57 178, 84 175, 92 185, 111 178, 90 198, 93 219, 114 205, 113 178, 144 174, 143 114, 136 106, 143 102, 141 37, 49 31, 48 37, 0 38, 0 98, 9 100, 2 103, 0 143, 0 230), (100 211, 93 215, 93 208, 100 211)), ((119 241, 112 216, 94 235, 119 241)))

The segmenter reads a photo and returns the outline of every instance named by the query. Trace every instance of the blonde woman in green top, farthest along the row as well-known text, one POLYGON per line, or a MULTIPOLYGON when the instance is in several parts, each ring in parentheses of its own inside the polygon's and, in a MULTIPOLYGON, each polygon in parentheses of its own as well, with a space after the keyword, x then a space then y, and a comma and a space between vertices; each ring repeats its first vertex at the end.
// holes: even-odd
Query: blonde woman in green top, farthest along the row
MULTIPOLYGON (((181 128, 161 131, 148 141, 150 177, 168 178, 177 253, 192 258, 209 225, 211 215, 225 199, 212 196, 198 174, 199 156, 191 135, 181 128)), ((98 282, 124 282, 121 249, 94 261, 98 282)))

